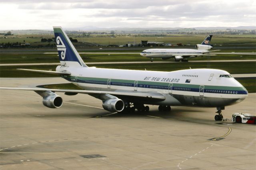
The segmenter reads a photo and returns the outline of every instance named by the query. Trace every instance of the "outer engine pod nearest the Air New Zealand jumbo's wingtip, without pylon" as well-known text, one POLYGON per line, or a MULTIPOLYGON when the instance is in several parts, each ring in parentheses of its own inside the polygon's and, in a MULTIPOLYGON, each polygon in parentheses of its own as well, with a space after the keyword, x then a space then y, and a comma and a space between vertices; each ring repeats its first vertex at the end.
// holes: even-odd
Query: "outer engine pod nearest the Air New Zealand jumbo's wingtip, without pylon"
POLYGON ((54 93, 54 95, 48 95, 43 98, 43 104, 49 108, 59 108, 62 106, 62 98, 54 93))

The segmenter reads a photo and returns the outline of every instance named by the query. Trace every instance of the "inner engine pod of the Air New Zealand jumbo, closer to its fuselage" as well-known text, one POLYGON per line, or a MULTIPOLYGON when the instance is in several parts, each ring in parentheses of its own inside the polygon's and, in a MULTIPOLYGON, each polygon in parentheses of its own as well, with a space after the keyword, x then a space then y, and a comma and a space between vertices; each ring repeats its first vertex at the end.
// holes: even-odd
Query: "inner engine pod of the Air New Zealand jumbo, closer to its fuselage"
POLYGON ((110 112, 120 112, 124 109, 124 102, 121 99, 108 99, 102 103, 102 107, 110 112))

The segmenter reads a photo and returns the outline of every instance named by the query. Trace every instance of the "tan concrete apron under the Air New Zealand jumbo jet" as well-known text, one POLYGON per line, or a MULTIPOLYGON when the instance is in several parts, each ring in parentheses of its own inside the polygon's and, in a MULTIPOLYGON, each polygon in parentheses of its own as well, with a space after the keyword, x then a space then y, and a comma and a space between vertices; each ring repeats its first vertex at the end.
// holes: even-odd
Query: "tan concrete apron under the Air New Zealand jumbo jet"
MULTIPOLYGON (((61 78, 0 78, 1 87, 67 83, 61 78)), ((254 125, 214 121, 215 108, 110 113, 88 95, 66 96, 59 109, 33 91, 0 90, 0 169, 254 169, 254 125)), ((256 93, 226 107, 255 115, 256 93)))

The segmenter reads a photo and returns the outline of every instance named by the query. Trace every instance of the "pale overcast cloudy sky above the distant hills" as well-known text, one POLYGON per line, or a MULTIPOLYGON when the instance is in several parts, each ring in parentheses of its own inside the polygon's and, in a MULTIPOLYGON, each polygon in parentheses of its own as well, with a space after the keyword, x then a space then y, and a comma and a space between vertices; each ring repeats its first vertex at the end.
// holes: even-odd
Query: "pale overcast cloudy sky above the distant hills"
POLYGON ((256 26, 256 0, 0 0, 0 30, 256 26))

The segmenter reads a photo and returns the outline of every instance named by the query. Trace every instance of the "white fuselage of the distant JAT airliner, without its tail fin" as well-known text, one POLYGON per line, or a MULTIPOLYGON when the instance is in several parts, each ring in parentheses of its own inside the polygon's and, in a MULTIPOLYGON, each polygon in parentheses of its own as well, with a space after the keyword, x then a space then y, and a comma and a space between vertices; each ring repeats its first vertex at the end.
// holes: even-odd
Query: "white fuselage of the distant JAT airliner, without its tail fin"
POLYGON ((172 58, 174 56, 196 56, 208 53, 207 50, 199 49, 146 49, 140 53, 148 58, 172 58))

